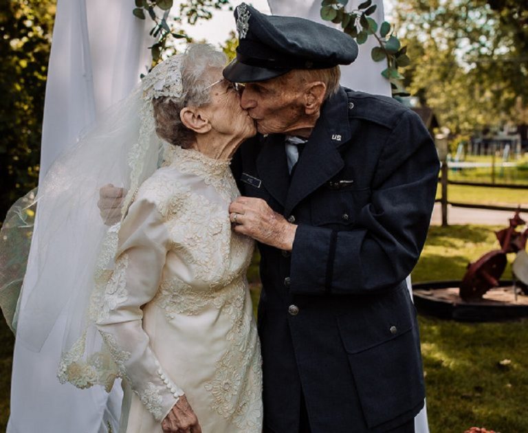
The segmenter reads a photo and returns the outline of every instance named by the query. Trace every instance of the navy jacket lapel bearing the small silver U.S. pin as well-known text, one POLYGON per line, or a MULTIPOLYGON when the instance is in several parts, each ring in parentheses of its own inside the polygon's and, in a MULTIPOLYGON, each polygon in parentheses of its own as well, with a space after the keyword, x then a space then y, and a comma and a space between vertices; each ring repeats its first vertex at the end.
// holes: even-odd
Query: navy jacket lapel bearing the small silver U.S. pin
POLYGON ((285 215, 344 168, 338 147, 348 142, 350 137, 348 97, 340 87, 338 93, 322 107, 320 118, 299 159, 287 191, 285 215))

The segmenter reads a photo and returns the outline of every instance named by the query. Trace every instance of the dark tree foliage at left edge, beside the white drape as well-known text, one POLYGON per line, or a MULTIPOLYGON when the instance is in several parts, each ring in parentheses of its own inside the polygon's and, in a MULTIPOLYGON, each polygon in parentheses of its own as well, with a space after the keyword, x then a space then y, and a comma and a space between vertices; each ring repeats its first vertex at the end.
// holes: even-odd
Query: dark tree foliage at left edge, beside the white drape
POLYGON ((0 3, 0 214, 36 186, 55 0, 0 3))

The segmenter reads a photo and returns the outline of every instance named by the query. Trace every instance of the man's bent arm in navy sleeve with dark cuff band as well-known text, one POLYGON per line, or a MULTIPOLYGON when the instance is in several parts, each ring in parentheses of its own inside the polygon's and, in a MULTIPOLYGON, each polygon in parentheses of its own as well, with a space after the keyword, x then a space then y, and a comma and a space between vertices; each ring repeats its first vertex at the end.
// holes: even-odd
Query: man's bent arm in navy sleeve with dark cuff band
POLYGON ((426 241, 437 190, 434 143, 406 111, 377 163, 371 201, 353 230, 299 225, 292 251, 292 293, 365 293, 397 285, 426 241))

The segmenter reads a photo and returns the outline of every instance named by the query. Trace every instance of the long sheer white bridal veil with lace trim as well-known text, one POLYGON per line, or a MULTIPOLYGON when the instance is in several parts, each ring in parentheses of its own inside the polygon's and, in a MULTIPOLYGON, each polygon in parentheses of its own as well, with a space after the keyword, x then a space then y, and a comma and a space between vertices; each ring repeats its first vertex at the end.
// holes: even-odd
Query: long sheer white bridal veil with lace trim
MULTIPOLYGON (((88 369, 89 375, 84 377, 91 377, 84 387, 100 383, 109 389, 119 375, 91 317, 91 311, 100 307, 100 291, 111 276, 120 225, 104 225, 97 206, 99 190, 113 184, 128 191, 122 206, 124 216, 137 188, 171 158, 171 146, 155 133, 152 101, 184 96, 184 56, 157 65, 129 97, 111 107, 54 162, 39 186, 28 266, 17 307, 17 340, 40 351, 59 315, 66 315, 61 381, 70 379, 68 373, 74 379, 80 366, 85 367, 85 373, 88 369)), ((15 213, 14 219, 20 215, 24 216, 23 212, 15 213)), ((20 285, 20 267, 17 269, 20 285)), ((16 290, 10 293, 10 300, 2 305, 5 311, 13 310, 12 293, 16 290)), ((83 388, 83 384, 76 385, 83 388)))

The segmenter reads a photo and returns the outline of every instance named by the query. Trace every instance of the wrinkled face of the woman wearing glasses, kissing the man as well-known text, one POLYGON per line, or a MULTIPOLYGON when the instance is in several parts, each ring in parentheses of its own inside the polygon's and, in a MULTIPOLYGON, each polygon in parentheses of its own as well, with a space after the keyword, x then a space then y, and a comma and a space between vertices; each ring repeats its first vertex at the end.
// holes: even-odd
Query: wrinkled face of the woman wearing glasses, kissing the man
POLYGON ((234 85, 222 77, 221 69, 210 74, 210 102, 202 107, 212 129, 222 135, 248 138, 256 134, 254 120, 240 107, 240 95, 234 85), (214 84, 213 84, 214 83, 214 84))

